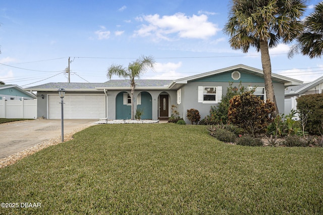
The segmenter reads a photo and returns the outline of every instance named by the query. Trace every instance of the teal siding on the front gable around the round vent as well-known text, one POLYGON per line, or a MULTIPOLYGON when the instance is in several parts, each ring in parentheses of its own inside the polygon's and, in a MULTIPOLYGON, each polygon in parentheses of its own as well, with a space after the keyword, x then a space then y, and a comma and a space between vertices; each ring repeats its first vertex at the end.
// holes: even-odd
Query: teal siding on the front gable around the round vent
MULTIPOLYGON (((264 82, 263 78, 260 78, 258 76, 253 76, 248 73, 243 73, 239 71, 240 73, 240 79, 239 80, 233 80, 231 77, 232 71, 228 71, 227 73, 221 73, 214 76, 205 77, 202 79, 194 80, 192 82, 248 82, 248 83, 262 83, 264 82)), ((273 82, 274 83, 274 82, 273 82)))

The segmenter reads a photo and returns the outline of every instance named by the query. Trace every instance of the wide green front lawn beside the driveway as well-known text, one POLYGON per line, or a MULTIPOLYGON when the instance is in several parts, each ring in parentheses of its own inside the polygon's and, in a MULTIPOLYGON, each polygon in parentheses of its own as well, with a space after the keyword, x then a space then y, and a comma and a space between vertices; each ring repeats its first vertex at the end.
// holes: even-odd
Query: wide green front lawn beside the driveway
POLYGON ((3 214, 322 214, 323 149, 242 147, 205 126, 104 124, 0 169, 3 214))

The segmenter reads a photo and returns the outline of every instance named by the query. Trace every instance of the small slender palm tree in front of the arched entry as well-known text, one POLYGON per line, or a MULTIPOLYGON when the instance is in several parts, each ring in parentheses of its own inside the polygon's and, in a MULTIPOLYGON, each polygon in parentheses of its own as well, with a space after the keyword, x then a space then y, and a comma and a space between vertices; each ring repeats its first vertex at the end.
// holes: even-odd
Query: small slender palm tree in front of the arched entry
POLYGON ((130 79, 131 87, 131 120, 134 120, 134 94, 135 94, 135 78, 140 78, 140 75, 143 74, 148 68, 153 68, 155 61, 153 57, 141 56, 136 61, 130 62, 128 68, 123 67, 122 65, 113 64, 107 68, 106 77, 111 79, 112 76, 117 75, 119 78, 123 77, 125 79, 130 79))

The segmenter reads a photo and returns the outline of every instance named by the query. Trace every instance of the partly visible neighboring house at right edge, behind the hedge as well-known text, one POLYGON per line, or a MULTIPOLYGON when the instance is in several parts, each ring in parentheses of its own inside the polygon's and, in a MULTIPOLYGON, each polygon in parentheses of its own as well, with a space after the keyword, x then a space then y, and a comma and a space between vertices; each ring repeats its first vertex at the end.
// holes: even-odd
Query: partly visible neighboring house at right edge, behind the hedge
POLYGON ((316 94, 323 92, 323 76, 313 82, 298 86, 291 86, 285 89, 285 115, 292 109, 296 110, 296 99, 302 95, 316 94))

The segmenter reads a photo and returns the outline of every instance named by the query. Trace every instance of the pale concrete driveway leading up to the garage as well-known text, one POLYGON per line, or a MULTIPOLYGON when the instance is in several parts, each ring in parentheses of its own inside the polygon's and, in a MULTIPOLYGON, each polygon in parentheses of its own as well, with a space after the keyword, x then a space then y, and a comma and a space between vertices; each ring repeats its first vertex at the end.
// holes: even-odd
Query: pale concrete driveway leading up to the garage
MULTIPOLYGON (((96 122, 95 119, 65 119, 64 133, 96 122)), ((61 136, 60 119, 40 119, 0 124, 0 159, 21 152, 40 142, 61 136)))

